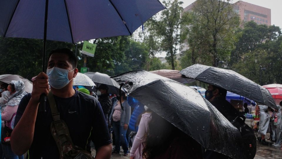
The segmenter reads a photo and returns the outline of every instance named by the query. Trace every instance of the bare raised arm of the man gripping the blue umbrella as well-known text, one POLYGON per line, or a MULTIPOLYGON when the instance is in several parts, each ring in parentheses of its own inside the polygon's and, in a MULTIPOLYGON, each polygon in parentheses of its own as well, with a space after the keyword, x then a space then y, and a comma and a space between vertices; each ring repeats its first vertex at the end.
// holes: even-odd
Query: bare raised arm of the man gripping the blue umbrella
POLYGON ((11 134, 11 148, 16 155, 26 153, 33 142, 40 95, 48 95, 48 88, 48 76, 41 72, 33 81, 31 99, 11 134))

